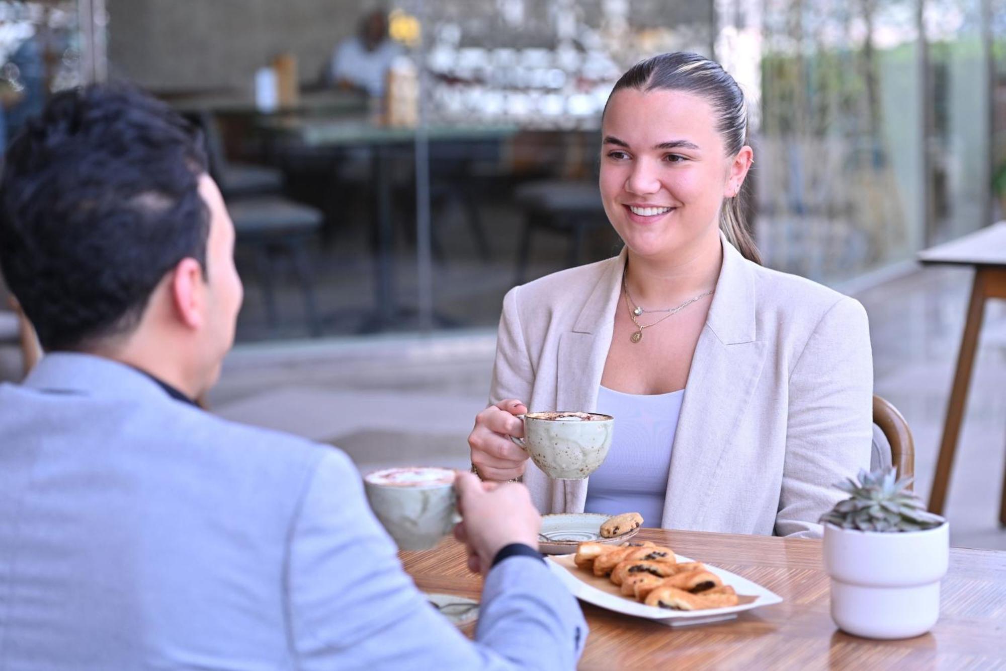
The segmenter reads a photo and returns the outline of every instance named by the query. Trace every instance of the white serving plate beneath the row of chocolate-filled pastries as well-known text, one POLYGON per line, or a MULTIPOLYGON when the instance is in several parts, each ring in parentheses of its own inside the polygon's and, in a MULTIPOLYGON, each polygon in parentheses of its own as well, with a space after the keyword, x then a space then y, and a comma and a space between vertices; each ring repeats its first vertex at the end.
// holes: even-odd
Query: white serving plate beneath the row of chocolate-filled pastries
MULTIPOLYGON (((689 559, 680 554, 675 554, 675 556, 679 563, 695 561, 695 559, 689 559)), ((710 622, 731 620, 743 611, 750 611, 751 609, 781 603, 783 601, 782 596, 766 589, 757 582, 751 582, 747 578, 722 568, 705 564, 709 572, 715 573, 723 581, 723 584, 728 584, 736 590, 740 599, 737 606, 725 609, 707 609, 704 611, 671 611, 657 608, 656 606, 646 606, 628 596, 623 596, 619 591, 619 585, 613 583, 610 578, 598 577, 590 571, 576 568, 572 558, 573 555, 564 554, 547 557, 546 561, 548 567, 562 580, 573 596, 609 611, 636 618, 654 620, 668 627, 701 625, 710 622)))

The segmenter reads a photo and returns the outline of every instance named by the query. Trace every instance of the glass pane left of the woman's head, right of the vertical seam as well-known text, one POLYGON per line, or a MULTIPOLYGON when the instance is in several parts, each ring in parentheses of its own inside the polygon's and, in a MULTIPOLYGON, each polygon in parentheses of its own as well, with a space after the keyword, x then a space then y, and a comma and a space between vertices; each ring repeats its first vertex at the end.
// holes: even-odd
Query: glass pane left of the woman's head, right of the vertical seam
POLYGON ((600 122, 638 60, 711 54, 711 1, 427 0, 435 322, 494 326, 514 284, 607 258, 600 122), (464 141, 442 135, 481 127, 464 141), (439 137, 438 137, 439 136, 439 137))

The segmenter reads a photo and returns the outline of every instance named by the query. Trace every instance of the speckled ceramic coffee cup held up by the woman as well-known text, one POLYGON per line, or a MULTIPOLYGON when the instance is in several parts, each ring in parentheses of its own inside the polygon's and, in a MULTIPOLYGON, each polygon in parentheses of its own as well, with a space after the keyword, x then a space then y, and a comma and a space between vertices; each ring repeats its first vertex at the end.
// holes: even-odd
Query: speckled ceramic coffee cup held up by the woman
POLYGON ((527 450, 549 478, 581 480, 598 469, 612 445, 615 418, 596 412, 529 412, 524 437, 510 439, 527 450))

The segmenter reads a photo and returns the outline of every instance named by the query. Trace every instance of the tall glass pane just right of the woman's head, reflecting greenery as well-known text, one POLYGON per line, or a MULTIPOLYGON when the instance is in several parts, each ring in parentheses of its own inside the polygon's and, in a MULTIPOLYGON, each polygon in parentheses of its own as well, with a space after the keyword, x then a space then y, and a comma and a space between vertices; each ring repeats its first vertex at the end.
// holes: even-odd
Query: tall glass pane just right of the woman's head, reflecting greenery
POLYGON ((913 12, 909 2, 763 3, 753 177, 768 265, 838 281, 918 248, 913 12))

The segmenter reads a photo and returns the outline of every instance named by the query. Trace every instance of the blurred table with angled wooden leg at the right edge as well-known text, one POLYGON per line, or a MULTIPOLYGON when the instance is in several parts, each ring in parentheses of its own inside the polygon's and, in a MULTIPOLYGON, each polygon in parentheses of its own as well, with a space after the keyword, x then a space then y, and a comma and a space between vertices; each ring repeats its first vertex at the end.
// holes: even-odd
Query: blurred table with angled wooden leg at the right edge
MULTIPOLYGON (((927 265, 956 265, 974 268, 975 279, 968 304, 968 319, 957 359, 954 386, 947 408, 943 439, 940 442, 940 459, 930 494, 930 510, 942 515, 947 501, 954 453, 961 435, 961 421, 968 400, 971 372, 978 350, 978 334, 982 329, 985 301, 989 298, 1006 298, 1006 222, 999 222, 958 240, 938 245, 918 253, 918 260, 927 265)), ((1006 525, 1006 476, 1003 478, 1002 502, 999 523, 1006 525)))

